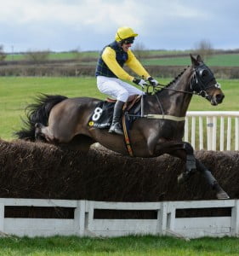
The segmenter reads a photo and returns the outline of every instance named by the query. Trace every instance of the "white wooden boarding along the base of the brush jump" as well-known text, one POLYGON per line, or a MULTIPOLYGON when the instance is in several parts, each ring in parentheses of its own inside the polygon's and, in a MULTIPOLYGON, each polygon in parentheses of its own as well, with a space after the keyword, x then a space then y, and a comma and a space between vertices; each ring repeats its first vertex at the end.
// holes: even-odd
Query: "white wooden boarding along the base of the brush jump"
POLYGON ((0 231, 2 236, 127 236, 167 235, 185 238, 202 236, 238 236, 239 200, 227 201, 162 201, 162 202, 104 202, 42 199, 0 199, 0 231), (19 218, 6 216, 9 208, 34 207, 67 209, 68 218, 19 218), (183 217, 179 212, 214 212, 227 210, 217 216, 183 217), (111 212, 115 217, 107 217, 111 212), (136 218, 135 218, 135 212, 136 218), (141 214, 141 213, 144 214, 141 214), (106 217, 104 215, 106 213, 106 217), (119 214, 120 213, 120 214, 119 214), (125 214, 126 213, 126 214, 125 214), (134 213, 133 215, 131 213, 134 213), (123 216, 124 215, 124 216, 123 216))

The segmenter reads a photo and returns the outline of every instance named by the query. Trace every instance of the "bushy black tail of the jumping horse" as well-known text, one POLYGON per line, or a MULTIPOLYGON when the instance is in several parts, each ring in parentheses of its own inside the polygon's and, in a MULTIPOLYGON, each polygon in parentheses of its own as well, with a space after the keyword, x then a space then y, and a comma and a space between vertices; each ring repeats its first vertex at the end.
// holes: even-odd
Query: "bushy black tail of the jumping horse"
POLYGON ((48 125, 48 117, 51 109, 58 103, 67 99, 60 95, 45 95, 37 96, 36 103, 32 103, 26 107, 26 119, 22 119, 24 126, 20 131, 14 132, 14 136, 35 141, 35 124, 41 123, 48 125))

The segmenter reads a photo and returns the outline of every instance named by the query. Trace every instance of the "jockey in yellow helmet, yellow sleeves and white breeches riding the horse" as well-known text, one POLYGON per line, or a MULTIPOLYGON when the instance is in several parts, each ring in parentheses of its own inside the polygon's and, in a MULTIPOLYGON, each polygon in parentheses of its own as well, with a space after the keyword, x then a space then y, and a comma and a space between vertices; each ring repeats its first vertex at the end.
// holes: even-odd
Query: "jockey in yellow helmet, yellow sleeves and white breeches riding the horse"
POLYGON ((120 135, 123 134, 120 120, 122 118, 124 102, 128 101, 129 96, 143 94, 142 90, 122 80, 133 82, 143 88, 146 84, 145 79, 153 86, 158 84, 156 79, 153 79, 151 75, 147 73, 145 68, 136 59, 131 49, 129 49, 134 43, 134 38, 137 36, 138 34, 128 26, 118 28, 115 41, 106 45, 101 51, 95 71, 97 86, 100 92, 117 99, 109 132, 120 135), (137 73, 140 78, 144 79, 136 79, 129 75, 122 69, 124 64, 130 67, 134 73, 137 73))

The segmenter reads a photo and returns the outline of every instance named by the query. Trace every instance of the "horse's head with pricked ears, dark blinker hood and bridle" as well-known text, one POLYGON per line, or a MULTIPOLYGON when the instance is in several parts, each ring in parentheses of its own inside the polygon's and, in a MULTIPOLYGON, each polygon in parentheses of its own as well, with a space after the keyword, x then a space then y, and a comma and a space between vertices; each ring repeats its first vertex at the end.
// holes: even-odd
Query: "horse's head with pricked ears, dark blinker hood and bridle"
POLYGON ((194 73, 191 78, 191 90, 205 97, 213 106, 223 102, 225 95, 220 89, 220 84, 214 78, 213 72, 207 67, 200 55, 196 59, 191 55, 194 73))

